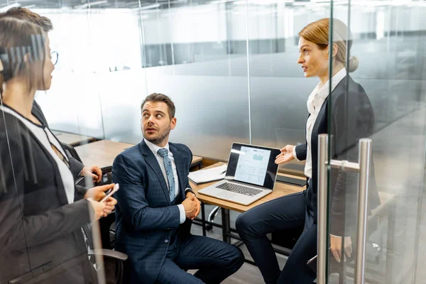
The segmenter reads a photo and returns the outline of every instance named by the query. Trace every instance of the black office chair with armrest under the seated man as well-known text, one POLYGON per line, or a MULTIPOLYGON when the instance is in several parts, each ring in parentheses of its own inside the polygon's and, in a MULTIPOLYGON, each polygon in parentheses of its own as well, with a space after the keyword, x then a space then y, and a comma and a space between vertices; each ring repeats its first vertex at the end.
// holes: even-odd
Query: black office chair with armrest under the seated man
MULTIPOLYGON (((105 185, 111 183, 112 167, 104 167, 102 170, 102 180, 97 185, 105 185)), ((84 177, 76 180, 75 185, 84 186, 84 177)), ((92 236, 92 224, 83 226, 84 235, 86 236, 86 244, 88 246, 88 254, 92 264, 94 264, 94 256, 100 255, 104 258, 105 278, 107 284, 123 283, 124 261, 127 260, 127 255, 119 251, 113 251, 115 242, 115 230, 111 229, 115 222, 115 214, 111 213, 108 217, 99 220, 101 231, 102 249, 94 249, 92 236)))

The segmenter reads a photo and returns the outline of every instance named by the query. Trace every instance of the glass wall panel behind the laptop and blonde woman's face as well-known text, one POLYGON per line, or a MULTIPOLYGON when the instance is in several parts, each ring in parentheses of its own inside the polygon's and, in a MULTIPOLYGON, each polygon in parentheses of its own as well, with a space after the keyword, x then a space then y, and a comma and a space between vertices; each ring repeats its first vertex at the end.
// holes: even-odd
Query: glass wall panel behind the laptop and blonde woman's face
MULTIPOLYGON (((300 4, 257 1, 248 6, 251 135, 256 145, 305 143, 306 100, 317 79, 305 78, 297 64, 298 33, 328 13, 324 4, 300 4)), ((302 174, 304 163, 292 161, 280 168, 302 174)))

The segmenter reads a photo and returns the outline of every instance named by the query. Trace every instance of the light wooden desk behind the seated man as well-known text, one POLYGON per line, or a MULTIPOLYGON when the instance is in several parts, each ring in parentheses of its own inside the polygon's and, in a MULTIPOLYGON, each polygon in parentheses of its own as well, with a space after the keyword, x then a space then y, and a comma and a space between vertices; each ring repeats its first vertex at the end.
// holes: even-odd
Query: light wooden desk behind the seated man
MULTIPOLYGON (((101 140, 75 147, 78 155, 82 159, 84 165, 97 165, 104 168, 112 165, 114 159, 119 153, 127 148, 134 146, 129 143, 114 142, 111 140, 101 140)), ((201 165, 202 157, 192 156, 191 167, 201 165)))

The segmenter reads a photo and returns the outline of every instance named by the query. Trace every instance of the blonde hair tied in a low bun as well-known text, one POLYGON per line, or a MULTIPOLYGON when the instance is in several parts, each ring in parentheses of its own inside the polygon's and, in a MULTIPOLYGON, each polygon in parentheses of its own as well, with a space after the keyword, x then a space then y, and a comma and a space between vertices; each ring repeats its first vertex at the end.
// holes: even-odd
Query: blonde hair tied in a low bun
MULTIPOLYGON (((329 30, 330 19, 322 18, 321 20, 310 23, 302 28, 299 35, 305 40, 316 43, 321 50, 324 50, 329 45, 329 30)), ((347 32, 347 26, 342 22, 333 18, 333 43, 337 45, 337 54, 335 60, 345 64, 346 62, 346 48, 351 50, 352 35, 347 32), (346 46, 346 40, 348 46, 346 46)), ((349 72, 354 72, 358 68, 358 58, 351 56, 349 58, 349 72)))

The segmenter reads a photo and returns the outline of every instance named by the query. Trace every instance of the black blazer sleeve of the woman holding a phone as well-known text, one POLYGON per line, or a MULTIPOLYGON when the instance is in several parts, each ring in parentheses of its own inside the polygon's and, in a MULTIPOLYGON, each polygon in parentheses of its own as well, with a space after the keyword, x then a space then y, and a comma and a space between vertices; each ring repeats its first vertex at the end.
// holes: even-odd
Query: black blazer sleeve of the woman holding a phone
MULTIPOLYGON (((8 130, 11 130, 9 134, 13 131, 8 130)), ((4 129, 0 129, 0 250, 5 253, 53 241, 89 222, 87 200, 40 212, 37 200, 24 196, 26 190, 31 190, 28 187, 34 186, 26 184, 28 172, 31 171, 30 167, 23 166, 22 161, 26 157, 28 147, 25 143, 18 143, 10 135, 8 143, 4 129), (23 212, 36 213, 28 215, 23 212)), ((35 190, 41 191, 43 188, 35 190)))

